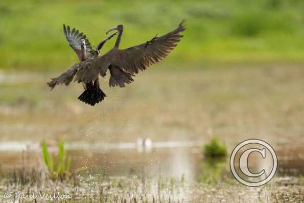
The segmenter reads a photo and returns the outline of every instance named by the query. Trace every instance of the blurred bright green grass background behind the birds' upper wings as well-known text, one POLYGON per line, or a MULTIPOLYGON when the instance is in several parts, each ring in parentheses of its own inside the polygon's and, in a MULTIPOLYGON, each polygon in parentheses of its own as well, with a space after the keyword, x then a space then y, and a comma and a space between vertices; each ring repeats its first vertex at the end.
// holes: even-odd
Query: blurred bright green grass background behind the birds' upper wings
POLYGON ((303 11, 302 0, 2 0, 0 68, 46 71, 72 65, 78 59, 64 38, 63 23, 84 32, 93 44, 107 29, 123 24, 121 48, 127 48, 171 31, 183 18, 185 37, 168 62, 301 62, 303 11))

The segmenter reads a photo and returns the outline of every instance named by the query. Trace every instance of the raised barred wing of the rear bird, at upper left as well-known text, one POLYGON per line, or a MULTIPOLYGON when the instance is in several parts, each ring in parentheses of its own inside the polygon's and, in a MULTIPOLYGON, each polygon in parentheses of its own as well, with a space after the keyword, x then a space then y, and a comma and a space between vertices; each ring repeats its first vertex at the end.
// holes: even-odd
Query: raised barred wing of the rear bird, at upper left
POLYGON ((85 39, 85 45, 87 51, 91 50, 91 44, 89 40, 86 38, 86 35, 83 33, 80 33, 79 30, 76 30, 76 28, 71 28, 69 26, 65 27, 63 24, 63 32, 64 36, 68 41, 69 46, 76 52, 79 60, 81 61, 81 45, 80 45, 80 39, 85 39))

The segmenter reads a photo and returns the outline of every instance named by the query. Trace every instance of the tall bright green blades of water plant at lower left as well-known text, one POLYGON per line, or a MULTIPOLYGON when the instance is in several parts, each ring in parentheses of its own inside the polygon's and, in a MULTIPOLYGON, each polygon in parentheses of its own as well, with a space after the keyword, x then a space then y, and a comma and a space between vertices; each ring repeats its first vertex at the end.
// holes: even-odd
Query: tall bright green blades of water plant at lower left
POLYGON ((61 140, 58 144, 59 153, 57 156, 53 156, 48 151, 48 145, 43 140, 42 142, 42 155, 45 167, 49 170, 50 178, 56 180, 64 180, 71 177, 74 172, 71 172, 71 156, 66 159, 66 151, 64 150, 64 141, 61 140))

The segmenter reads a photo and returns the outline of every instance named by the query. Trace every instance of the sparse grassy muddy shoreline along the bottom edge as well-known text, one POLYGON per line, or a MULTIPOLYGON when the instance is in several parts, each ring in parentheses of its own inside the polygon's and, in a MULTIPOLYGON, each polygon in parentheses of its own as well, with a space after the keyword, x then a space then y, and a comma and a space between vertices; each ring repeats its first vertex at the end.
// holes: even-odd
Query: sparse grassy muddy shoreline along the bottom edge
MULTIPOLYGON (((184 178, 149 178, 146 173, 129 176, 83 174, 69 181, 52 181, 36 166, 6 173, 0 171, 0 200, 11 202, 301 202, 301 177, 275 177, 263 187, 246 187, 232 177, 213 183, 184 178), (4 194, 12 195, 4 198, 4 194), (42 198, 40 193, 51 197, 42 198), (23 194, 22 198, 20 194, 23 194), (30 196, 30 195, 34 195, 30 196), (55 195, 55 196, 54 196, 55 195), (67 196, 68 195, 68 196, 67 196), (58 198, 62 197, 61 199, 58 198), (53 197, 53 199, 52 199, 53 197)), ((44 196, 45 197, 45 196, 44 196)))

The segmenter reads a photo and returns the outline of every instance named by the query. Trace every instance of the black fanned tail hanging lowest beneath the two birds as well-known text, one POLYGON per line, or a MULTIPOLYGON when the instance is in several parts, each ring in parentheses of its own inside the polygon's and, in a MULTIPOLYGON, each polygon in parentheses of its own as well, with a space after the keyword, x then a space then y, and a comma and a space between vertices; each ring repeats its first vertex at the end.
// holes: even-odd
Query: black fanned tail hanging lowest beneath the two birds
POLYGON ((78 99, 86 104, 94 106, 101 102, 106 97, 106 94, 102 92, 99 87, 98 81, 86 83, 86 90, 78 97, 78 99))

